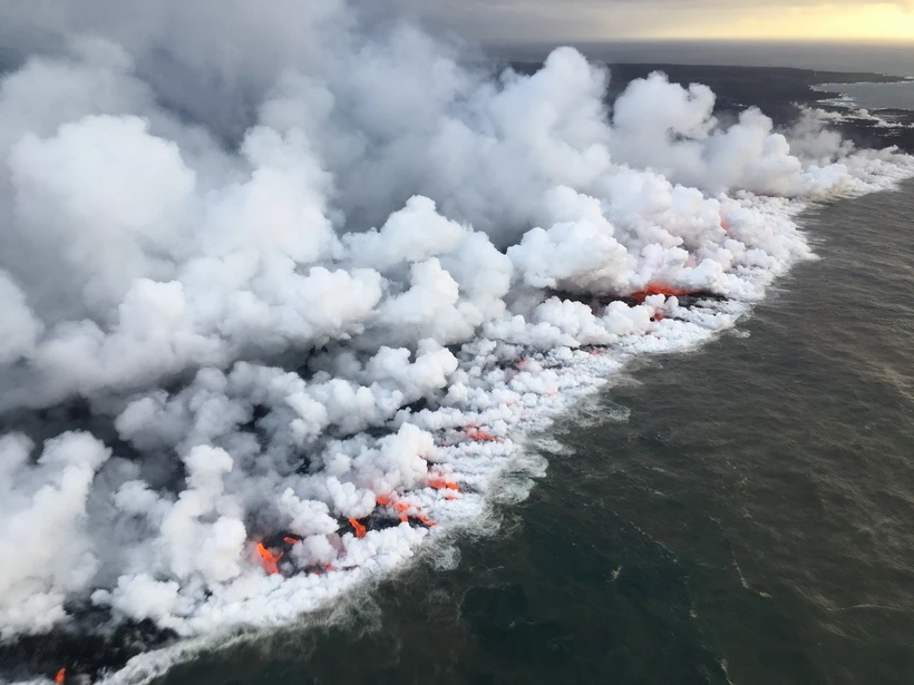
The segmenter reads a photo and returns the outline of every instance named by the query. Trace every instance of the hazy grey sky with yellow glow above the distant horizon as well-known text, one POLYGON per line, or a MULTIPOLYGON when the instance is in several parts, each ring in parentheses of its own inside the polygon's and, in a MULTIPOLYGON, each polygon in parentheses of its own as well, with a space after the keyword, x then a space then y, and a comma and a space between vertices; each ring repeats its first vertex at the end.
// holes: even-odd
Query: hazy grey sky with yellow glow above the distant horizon
POLYGON ((482 40, 757 39, 914 42, 914 0, 406 0, 482 40))

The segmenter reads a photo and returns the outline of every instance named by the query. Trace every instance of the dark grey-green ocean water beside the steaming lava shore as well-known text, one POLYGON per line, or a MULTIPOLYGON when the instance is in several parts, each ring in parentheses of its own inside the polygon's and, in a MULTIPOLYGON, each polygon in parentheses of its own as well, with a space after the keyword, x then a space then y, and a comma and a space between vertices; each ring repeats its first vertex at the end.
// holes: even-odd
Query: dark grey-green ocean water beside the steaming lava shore
POLYGON ((161 685, 910 683, 912 190, 808 213, 823 258, 564 417, 493 535, 161 685))

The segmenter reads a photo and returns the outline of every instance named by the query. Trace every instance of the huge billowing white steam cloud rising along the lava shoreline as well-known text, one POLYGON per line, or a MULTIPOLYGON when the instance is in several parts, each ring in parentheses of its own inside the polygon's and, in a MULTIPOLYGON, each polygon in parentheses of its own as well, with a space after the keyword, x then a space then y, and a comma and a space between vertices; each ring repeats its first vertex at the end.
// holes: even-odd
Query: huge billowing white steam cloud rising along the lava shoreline
POLYGON ((82 398, 118 438, 0 439, 4 640, 89 605, 275 625, 396 568, 525 428, 811 256, 804 202, 914 172, 342 0, 2 4, 0 408, 82 398))

